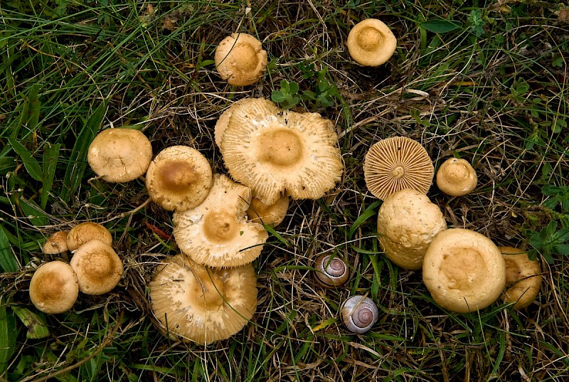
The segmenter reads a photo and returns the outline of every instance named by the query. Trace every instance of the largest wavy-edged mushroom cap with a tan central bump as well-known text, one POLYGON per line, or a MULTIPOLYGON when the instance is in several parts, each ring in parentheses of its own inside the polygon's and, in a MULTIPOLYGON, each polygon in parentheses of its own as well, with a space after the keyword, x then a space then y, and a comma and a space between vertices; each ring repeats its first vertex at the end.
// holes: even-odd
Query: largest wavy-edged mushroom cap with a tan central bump
POLYGON ((221 154, 233 179, 267 205, 286 195, 321 198, 344 171, 331 121, 262 98, 233 106, 221 154))

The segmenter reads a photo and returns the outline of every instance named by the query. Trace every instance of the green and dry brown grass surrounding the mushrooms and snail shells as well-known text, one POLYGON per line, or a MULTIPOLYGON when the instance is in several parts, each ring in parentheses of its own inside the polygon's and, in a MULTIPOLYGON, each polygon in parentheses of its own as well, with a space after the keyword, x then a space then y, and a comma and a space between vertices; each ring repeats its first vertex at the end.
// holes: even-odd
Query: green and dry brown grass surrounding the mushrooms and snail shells
POLYGON ((26 0, 1 1, 0 12, 1 380, 569 378, 562 2, 26 0), (344 43, 353 23, 372 16, 389 23, 398 50, 385 65, 363 68, 344 43), (256 85, 230 87, 216 74, 216 43, 234 31, 259 36, 269 52, 256 85), (207 347, 169 341, 153 326, 146 285, 156 263, 176 253, 147 223, 171 233, 171 214, 137 208, 147 200, 143 181, 93 179, 85 149, 99 129, 129 124, 154 152, 188 144, 224 172, 212 144, 220 112, 242 97, 270 98, 282 80, 297 83, 299 95, 312 92, 293 110, 336 123, 344 179, 326 198, 291 204, 280 237, 255 262, 260 302, 248 327, 207 347), (379 204, 361 163, 373 142, 393 135, 419 140, 437 166, 450 156, 472 160, 474 193, 450 198, 433 186, 429 196, 449 226, 541 258, 536 303, 521 312, 499 302, 445 312, 420 272, 381 255, 379 204), (38 314, 27 288, 50 260, 41 245, 81 221, 111 230, 123 280, 107 295, 82 295, 67 314, 38 314), (349 260, 346 287, 314 282, 321 253, 349 260), (361 336, 337 319, 340 302, 356 293, 369 293, 381 310, 361 336), (43 320, 50 335, 27 338, 18 308, 38 314, 33 323, 43 320))

